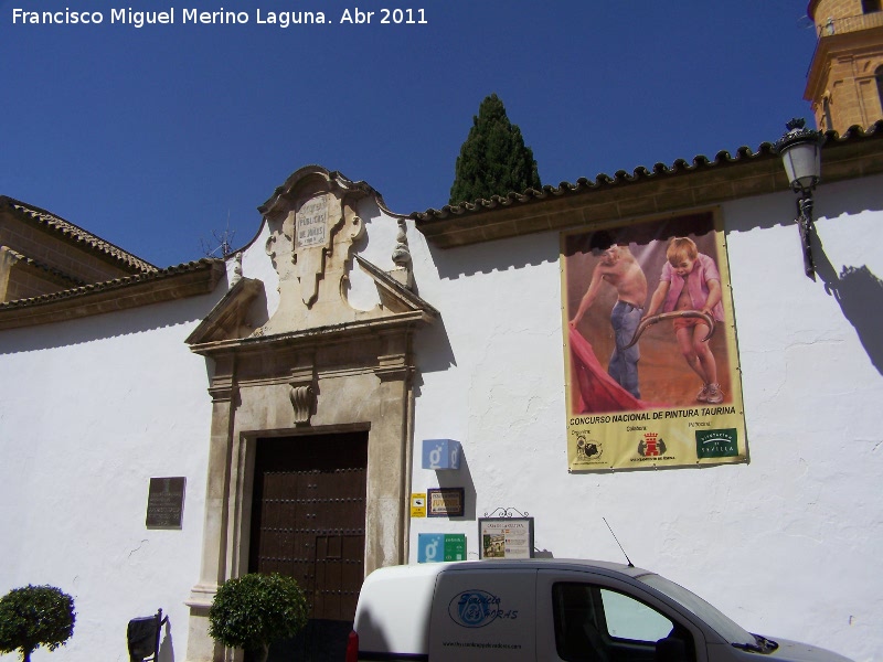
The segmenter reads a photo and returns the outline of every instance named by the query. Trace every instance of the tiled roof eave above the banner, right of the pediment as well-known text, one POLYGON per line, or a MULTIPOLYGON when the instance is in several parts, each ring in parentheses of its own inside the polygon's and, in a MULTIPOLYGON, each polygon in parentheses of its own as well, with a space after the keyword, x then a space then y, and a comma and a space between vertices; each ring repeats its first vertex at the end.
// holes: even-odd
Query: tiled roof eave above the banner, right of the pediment
MULTIPOLYGON (((825 183, 883 172, 883 120, 868 131, 852 127, 842 137, 827 134, 822 150, 825 183)), ((595 181, 563 182, 507 197, 446 205, 411 214, 416 228, 439 248, 453 248, 539 232, 603 226, 641 216, 681 212, 789 190, 781 160, 772 145, 757 152, 741 148, 735 157, 719 152, 713 161, 696 157, 632 174, 617 172, 595 181)))

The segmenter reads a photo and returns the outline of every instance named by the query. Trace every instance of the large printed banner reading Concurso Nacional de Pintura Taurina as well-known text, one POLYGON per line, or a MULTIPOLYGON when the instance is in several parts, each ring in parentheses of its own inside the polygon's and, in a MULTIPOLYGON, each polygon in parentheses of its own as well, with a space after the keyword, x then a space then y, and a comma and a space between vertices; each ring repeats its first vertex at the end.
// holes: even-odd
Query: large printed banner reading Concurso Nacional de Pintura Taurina
POLYGON ((715 215, 567 233, 561 264, 568 468, 747 461, 715 215))

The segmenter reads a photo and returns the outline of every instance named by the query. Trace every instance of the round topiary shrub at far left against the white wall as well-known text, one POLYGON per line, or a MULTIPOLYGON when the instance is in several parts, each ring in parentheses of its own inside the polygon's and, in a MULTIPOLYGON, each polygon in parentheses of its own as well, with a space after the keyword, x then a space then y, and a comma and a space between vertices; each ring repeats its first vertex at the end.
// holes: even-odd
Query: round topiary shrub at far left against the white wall
POLYGON ((41 645, 54 651, 74 633, 74 599, 54 586, 13 588, 0 598, 0 653, 21 651, 23 662, 41 645))

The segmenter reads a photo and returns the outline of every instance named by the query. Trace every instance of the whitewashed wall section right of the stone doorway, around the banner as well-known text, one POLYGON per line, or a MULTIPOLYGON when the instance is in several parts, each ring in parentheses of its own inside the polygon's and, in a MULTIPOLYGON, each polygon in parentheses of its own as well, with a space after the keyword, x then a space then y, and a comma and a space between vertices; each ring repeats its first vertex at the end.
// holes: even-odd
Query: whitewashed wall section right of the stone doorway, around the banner
MULTIPOLYGON (((883 277, 883 179, 823 185, 816 211, 838 274, 883 277)), ((465 487, 471 515, 413 520, 411 560, 422 532, 465 533, 477 557, 475 519, 498 506, 535 517, 545 554, 621 560, 606 517, 636 565, 745 628, 874 659, 883 378, 838 300, 804 275, 794 213, 790 193, 723 206, 751 463, 681 470, 567 472, 557 233, 455 250, 411 233, 419 293, 443 318, 418 343, 412 490, 465 487), (465 467, 421 469, 430 438, 461 441, 465 467)), ((859 320, 869 334, 881 305, 877 286, 859 320)))

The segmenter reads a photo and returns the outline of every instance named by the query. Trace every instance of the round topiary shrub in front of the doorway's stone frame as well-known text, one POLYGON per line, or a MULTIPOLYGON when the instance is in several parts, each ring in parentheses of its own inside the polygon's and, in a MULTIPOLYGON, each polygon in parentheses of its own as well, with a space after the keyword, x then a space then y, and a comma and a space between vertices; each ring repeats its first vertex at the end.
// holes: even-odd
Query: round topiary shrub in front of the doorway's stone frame
POLYGON ((209 610, 209 634, 266 662, 270 644, 307 624, 307 598, 292 577, 257 573, 227 579, 209 610))

